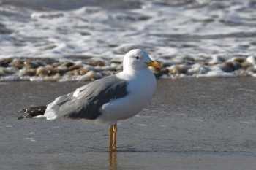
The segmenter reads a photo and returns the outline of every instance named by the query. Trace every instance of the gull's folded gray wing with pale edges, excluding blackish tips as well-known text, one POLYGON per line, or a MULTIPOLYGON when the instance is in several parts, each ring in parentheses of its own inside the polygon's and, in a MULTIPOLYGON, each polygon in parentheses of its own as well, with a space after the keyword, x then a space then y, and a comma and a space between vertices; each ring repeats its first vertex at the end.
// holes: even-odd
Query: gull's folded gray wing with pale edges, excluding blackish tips
POLYGON ((105 77, 56 98, 48 104, 45 116, 48 120, 58 117, 94 120, 102 114, 99 109, 103 104, 127 94, 126 80, 118 79, 115 75, 105 77))

